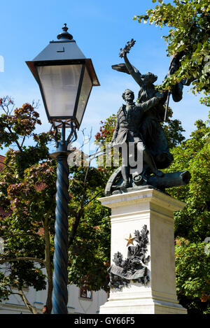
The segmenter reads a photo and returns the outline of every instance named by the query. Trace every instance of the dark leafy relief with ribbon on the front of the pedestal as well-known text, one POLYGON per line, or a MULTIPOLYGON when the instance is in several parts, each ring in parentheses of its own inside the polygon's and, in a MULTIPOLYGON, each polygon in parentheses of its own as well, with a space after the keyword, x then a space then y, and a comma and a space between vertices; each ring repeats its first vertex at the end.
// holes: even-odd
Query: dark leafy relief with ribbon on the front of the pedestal
POLYGON ((147 264, 150 256, 146 257, 147 244, 148 244, 148 229, 146 224, 141 229, 135 230, 134 238, 131 235, 126 239, 127 245, 133 244, 133 241, 137 242, 135 246, 129 246, 127 248, 127 259, 123 259, 123 255, 120 252, 114 254, 113 262, 108 269, 110 277, 110 287, 120 290, 124 286, 127 286, 131 280, 133 282, 146 285, 150 280, 148 276, 148 269, 144 264, 147 264))

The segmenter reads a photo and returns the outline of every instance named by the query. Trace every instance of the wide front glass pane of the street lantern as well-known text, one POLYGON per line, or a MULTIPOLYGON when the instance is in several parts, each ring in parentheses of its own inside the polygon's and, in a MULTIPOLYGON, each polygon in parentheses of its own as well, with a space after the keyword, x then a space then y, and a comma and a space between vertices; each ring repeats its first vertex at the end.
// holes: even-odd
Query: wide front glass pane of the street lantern
POLYGON ((72 117, 82 64, 38 66, 50 117, 72 117))

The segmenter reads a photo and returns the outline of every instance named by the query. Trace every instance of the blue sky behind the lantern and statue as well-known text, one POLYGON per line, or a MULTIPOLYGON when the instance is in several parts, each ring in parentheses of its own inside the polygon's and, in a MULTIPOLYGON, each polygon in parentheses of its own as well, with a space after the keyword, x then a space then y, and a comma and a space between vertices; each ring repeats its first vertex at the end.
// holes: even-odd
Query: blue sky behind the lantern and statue
MULTIPOLYGON (((137 97, 139 88, 131 76, 111 69, 111 65, 123 62, 118 53, 127 41, 131 38, 137 41, 129 58, 141 73, 157 74, 158 83, 165 78, 169 57, 162 35, 167 34, 167 29, 132 20, 134 15, 144 14, 153 6, 151 0, 2 1, 0 55, 4 59, 4 71, 0 72, 0 97, 9 95, 16 106, 40 100, 38 112, 43 124, 38 131, 48 131, 50 126, 41 94, 25 61, 33 59, 49 41, 55 40, 66 23, 85 57, 92 59, 101 84, 92 89, 80 127, 86 131, 92 127, 93 134, 97 133, 99 122, 120 108, 121 94, 126 88, 133 90, 137 97)), ((208 108, 187 89, 182 101, 174 103, 171 99, 169 105, 174 118, 181 120, 186 129, 186 137, 193 131, 195 120, 207 119, 208 108)))

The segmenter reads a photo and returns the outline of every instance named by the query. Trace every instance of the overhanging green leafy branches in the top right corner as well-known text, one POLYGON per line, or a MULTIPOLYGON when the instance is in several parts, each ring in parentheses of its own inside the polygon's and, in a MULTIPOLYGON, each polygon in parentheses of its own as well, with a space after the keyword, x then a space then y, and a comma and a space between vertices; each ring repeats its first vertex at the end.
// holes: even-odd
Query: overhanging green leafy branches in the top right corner
MULTIPOLYGON (((152 0, 153 3, 156 0, 152 0)), ((181 80, 193 80, 192 92, 202 93, 202 102, 209 106, 210 78, 210 4, 208 0, 174 0, 164 3, 158 0, 155 8, 146 15, 135 15, 134 20, 168 27, 164 36, 168 55, 180 55, 181 66, 162 84, 165 90, 181 80)))

